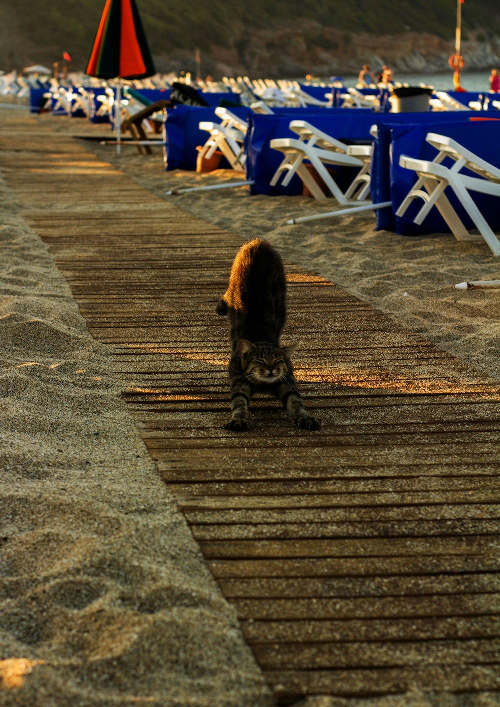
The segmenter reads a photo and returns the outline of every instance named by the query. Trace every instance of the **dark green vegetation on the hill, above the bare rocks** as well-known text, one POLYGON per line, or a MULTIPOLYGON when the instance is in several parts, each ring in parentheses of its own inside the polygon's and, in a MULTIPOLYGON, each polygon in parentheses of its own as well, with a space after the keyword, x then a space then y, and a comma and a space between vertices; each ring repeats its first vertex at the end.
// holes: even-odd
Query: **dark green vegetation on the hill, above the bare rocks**
MULTIPOLYGON (((429 33, 451 40, 456 0, 137 0, 156 57, 198 47, 238 48, 252 41, 252 30, 297 28, 313 20, 345 33, 397 35, 429 33), (234 28, 237 28, 235 31, 234 28)), ((70 52, 75 69, 83 69, 98 28, 104 0, 2 0, 0 68, 25 62, 52 62, 70 52), (9 32, 12 28, 12 34, 9 32)), ((465 0, 464 37, 480 30, 483 39, 500 35, 498 0, 465 0)))

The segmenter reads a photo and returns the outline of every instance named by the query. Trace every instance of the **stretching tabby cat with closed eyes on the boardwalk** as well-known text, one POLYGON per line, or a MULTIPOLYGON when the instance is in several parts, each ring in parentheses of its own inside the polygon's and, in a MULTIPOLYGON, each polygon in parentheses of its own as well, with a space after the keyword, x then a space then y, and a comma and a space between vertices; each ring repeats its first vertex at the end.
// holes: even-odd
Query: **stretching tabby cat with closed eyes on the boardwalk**
POLYGON ((280 346, 286 319, 286 278, 281 257, 260 238, 236 255, 226 294, 217 307, 228 315, 233 352, 229 363, 231 421, 226 428, 248 429, 248 404, 256 390, 274 393, 299 427, 319 430, 321 420, 308 415, 293 376, 295 346, 280 346))

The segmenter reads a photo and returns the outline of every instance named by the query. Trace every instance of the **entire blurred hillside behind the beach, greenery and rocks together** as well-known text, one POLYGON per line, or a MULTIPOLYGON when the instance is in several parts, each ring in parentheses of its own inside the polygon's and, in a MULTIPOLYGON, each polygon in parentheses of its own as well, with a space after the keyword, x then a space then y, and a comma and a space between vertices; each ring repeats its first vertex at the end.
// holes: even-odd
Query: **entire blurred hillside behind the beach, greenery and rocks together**
MULTIPOLYGON (((104 0, 2 0, 0 69, 52 65, 69 52, 82 71, 104 0)), ((355 74, 390 64, 397 74, 448 68, 455 0, 137 0, 158 71, 294 77, 355 74)), ((500 66, 498 0, 465 0, 467 69, 500 66)))

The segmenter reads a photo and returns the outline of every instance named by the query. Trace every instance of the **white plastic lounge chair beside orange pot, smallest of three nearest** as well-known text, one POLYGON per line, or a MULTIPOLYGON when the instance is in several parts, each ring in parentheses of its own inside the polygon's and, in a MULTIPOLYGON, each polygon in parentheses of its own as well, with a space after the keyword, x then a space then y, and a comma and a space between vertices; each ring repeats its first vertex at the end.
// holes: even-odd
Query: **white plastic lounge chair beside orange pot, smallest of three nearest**
POLYGON ((215 109, 221 123, 202 121, 200 130, 207 130, 210 137, 200 151, 201 158, 209 160, 216 150, 220 150, 233 170, 245 171, 245 135, 248 126, 243 120, 224 107, 215 109))

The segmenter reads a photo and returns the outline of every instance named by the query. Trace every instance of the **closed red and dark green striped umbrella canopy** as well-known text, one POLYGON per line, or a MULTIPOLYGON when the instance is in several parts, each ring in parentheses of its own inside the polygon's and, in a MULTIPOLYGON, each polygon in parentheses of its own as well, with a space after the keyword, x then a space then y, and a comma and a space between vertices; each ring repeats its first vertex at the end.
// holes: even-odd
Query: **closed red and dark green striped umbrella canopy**
POLYGON ((135 0, 106 0, 85 73, 127 79, 156 74, 135 0))

